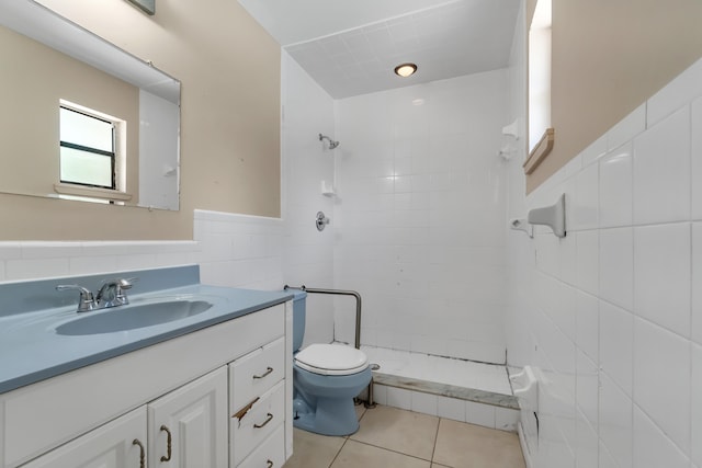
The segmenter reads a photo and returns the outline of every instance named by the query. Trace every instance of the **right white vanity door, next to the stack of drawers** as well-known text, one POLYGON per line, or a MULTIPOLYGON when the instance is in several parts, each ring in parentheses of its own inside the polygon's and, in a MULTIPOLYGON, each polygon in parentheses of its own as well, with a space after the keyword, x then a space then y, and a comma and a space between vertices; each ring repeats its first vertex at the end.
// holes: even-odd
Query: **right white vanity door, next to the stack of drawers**
POLYGON ((148 404, 149 466, 227 466, 227 368, 148 404))

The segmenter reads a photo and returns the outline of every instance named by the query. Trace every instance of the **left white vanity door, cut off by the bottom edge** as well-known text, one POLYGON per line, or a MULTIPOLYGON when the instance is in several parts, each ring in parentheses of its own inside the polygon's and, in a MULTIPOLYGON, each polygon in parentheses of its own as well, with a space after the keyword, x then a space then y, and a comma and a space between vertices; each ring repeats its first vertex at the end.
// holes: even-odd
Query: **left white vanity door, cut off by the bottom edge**
POLYGON ((146 444, 146 407, 141 407, 23 468, 145 468, 146 444))

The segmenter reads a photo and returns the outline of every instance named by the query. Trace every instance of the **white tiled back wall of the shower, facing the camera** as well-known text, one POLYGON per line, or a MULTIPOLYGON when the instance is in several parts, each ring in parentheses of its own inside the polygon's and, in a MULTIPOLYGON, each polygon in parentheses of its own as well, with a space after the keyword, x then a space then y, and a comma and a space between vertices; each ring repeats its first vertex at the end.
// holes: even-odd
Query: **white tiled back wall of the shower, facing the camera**
POLYGON ((364 344, 505 362, 506 90, 497 70, 337 103, 333 276, 364 344))

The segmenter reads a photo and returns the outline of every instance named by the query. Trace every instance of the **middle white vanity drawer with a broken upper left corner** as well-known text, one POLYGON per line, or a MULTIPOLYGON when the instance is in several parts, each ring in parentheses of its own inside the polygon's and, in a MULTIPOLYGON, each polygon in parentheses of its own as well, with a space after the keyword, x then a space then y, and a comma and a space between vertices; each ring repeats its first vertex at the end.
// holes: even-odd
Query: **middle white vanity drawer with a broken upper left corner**
POLYGON ((262 395, 239 419, 230 418, 229 437, 234 466, 244 460, 252 448, 263 442, 285 420, 285 380, 279 381, 262 395))

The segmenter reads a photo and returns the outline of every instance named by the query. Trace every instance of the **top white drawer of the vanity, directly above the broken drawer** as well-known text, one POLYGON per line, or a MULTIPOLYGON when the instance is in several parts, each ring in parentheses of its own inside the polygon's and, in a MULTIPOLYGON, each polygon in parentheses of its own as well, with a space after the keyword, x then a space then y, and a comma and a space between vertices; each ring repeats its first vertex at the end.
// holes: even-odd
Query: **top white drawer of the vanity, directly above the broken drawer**
POLYGON ((229 365, 229 408, 239 411, 285 377, 285 338, 260 347, 229 365))

